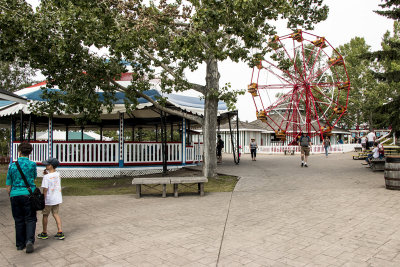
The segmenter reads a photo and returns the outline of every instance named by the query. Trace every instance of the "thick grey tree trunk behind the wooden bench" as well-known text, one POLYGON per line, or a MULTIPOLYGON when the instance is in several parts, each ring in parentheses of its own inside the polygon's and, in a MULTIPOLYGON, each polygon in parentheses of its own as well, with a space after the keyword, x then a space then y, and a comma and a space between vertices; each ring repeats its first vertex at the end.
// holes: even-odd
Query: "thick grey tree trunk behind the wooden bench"
POLYGON ((218 116, 218 92, 219 92, 219 72, 218 61, 210 59, 207 61, 206 91, 204 105, 204 157, 203 175, 205 177, 215 177, 217 168, 216 155, 216 130, 218 116))

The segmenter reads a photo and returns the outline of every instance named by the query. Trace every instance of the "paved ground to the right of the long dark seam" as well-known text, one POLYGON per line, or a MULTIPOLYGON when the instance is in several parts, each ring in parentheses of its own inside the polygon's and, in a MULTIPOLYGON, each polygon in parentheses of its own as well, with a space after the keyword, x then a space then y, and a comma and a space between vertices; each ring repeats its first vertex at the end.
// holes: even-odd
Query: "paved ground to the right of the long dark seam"
POLYGON ((400 266, 400 192, 350 154, 240 166, 218 266, 400 266))

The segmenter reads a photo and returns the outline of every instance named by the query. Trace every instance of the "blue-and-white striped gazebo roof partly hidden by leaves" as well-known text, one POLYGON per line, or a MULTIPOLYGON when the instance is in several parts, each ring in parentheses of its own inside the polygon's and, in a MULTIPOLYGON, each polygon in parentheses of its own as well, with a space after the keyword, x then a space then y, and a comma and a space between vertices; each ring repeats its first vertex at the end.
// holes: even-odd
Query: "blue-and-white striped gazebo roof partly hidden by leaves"
MULTIPOLYGON (((121 79, 117 81, 117 83, 127 87, 130 85, 130 73, 125 73, 124 75, 121 76, 121 79)), ((204 99, 200 99, 199 97, 192 97, 192 96, 185 96, 182 94, 164 94, 158 89, 158 80, 153 80, 151 81, 153 84, 153 89, 145 91, 144 93, 147 96, 150 96, 153 100, 155 100, 158 97, 165 97, 167 99, 167 105, 171 108, 175 109, 181 109, 185 112, 196 114, 196 115, 203 115, 204 112, 204 99)), ((48 88, 47 87, 47 82, 41 82, 35 85, 32 85, 30 87, 21 89, 19 91, 16 91, 15 94, 19 96, 20 98, 26 99, 29 103, 34 103, 36 101, 45 101, 42 98, 42 90, 59 90, 58 88, 48 88)), ((99 91, 97 92, 100 101, 104 99, 103 92, 99 91)), ((112 115, 112 114, 118 114, 119 112, 125 112, 125 104, 124 104, 124 99, 125 99, 125 93, 123 92, 117 92, 115 93, 116 101, 114 101, 114 109, 111 113, 107 113, 106 109, 104 108, 104 115, 112 115)), ((148 102, 144 98, 139 98, 138 99, 139 105, 136 107, 135 111, 145 109, 147 107, 152 107, 153 104, 148 102)), ((29 105, 27 104, 20 104, 18 102, 14 101, 9 101, 9 100, 0 100, 0 117, 5 117, 9 115, 14 115, 19 113, 20 111, 23 111, 25 114, 30 114, 31 110, 29 108, 29 105)), ((218 103, 218 114, 221 115, 223 113, 227 113, 228 108, 227 105, 223 102, 220 101, 218 103)), ((143 112, 142 112, 143 113, 143 112)), ((138 114, 136 114, 138 115, 138 114)), ((143 115, 143 114, 141 114, 143 115)), ((141 117, 141 115, 138 115, 138 117, 141 117)), ((71 115, 66 115, 67 117, 73 117, 71 115)), ((159 117, 158 114, 156 116, 159 117)), ((57 117, 55 115, 55 117, 57 117)), ((62 116, 61 116, 62 117, 62 116)), ((151 117, 150 114, 147 114, 145 117, 151 117)))

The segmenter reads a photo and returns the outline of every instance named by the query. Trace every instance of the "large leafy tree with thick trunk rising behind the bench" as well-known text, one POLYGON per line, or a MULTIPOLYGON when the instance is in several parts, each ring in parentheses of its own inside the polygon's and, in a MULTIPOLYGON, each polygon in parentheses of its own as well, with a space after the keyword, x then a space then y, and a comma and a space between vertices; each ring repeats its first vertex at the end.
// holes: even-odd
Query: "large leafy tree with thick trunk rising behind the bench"
POLYGON ((203 125, 203 174, 215 175, 218 101, 234 105, 237 93, 229 85, 220 87, 218 63, 254 62, 264 55, 273 21, 287 19, 288 26, 312 28, 326 19, 328 8, 322 0, 43 0, 29 29, 32 66, 61 92, 44 92, 48 104, 40 110, 82 114, 96 119, 101 105, 112 108, 116 91, 126 93, 127 108, 138 97, 155 107, 203 125), (107 60, 93 49, 106 49, 107 60), (252 55, 252 49, 259 53, 252 55), (114 79, 131 63, 132 85, 124 88, 114 79), (205 84, 187 81, 185 71, 205 64, 205 84), (159 72, 159 74, 157 73, 159 72), (149 80, 161 78, 165 92, 194 89, 205 99, 204 116, 171 110, 143 91, 149 80), (95 88, 105 92, 105 103, 95 97, 95 88), (86 101, 90 96, 92 101, 86 101), (59 105, 61 102, 66 105, 59 105))

